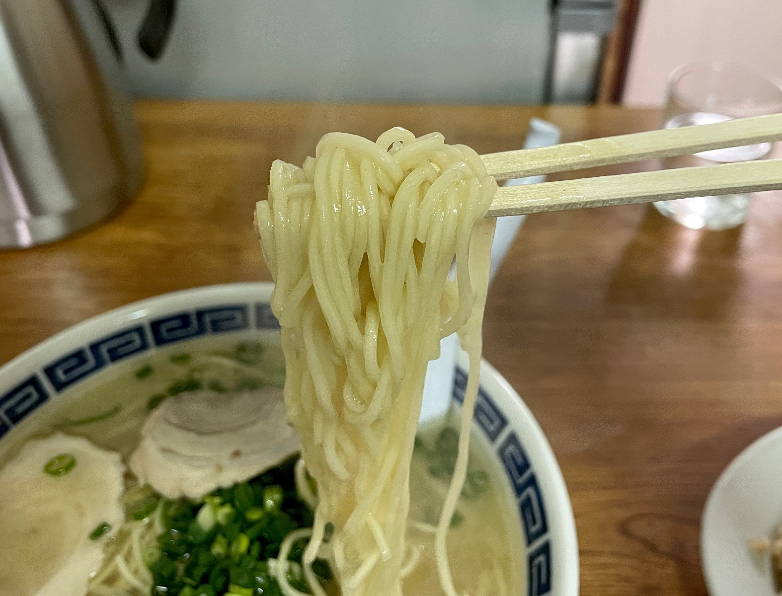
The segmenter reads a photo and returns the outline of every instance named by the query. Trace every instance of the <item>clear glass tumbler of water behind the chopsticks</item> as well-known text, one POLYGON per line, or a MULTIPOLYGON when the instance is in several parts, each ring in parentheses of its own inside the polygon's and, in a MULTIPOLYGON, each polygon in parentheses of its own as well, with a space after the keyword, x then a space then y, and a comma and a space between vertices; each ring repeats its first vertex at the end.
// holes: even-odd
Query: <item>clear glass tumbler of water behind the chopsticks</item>
MULTIPOLYGON (((711 124, 732 118, 782 112, 782 86, 748 66, 693 63, 673 71, 668 84, 663 127, 711 124)), ((669 157, 662 167, 708 166, 716 163, 759 160, 770 143, 714 149, 694 155, 669 157)), ((658 201, 657 210, 687 228, 724 230, 747 219, 751 194, 698 196, 658 201)))

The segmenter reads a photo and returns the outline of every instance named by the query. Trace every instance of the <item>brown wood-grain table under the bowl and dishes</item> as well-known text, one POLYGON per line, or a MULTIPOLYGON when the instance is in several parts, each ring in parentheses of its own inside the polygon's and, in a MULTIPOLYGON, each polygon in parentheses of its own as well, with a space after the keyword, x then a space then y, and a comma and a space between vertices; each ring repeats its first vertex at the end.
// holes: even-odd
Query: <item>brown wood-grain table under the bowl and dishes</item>
MULTIPOLYGON (((565 141, 659 122, 649 110, 579 107, 145 101, 137 113, 149 170, 135 203, 74 238, 0 253, 0 362, 132 300, 268 279, 253 204, 272 159, 300 163, 327 131, 403 125, 487 153, 517 148, 533 115, 565 141)), ((780 199, 757 199, 729 232, 687 230, 647 206, 535 215, 500 269, 485 355, 559 458, 582 594, 705 594, 708 489, 782 423, 780 199)))

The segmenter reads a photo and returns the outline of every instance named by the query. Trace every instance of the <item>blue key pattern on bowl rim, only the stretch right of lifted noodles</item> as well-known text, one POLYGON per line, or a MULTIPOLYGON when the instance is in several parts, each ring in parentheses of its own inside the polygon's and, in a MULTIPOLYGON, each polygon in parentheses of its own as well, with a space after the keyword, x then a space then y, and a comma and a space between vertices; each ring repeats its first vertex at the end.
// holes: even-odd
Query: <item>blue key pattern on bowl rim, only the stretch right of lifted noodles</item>
MULTIPOLYGON (((466 389, 467 373, 457 367, 453 399, 463 403, 466 389)), ((497 456, 515 490, 527 544, 527 596, 548 594, 551 592, 551 544, 543 495, 540 493, 532 464, 515 431, 509 431, 500 440, 503 431, 508 427, 508 418, 505 418, 482 387, 478 388, 474 418, 492 447, 497 449, 497 456)))

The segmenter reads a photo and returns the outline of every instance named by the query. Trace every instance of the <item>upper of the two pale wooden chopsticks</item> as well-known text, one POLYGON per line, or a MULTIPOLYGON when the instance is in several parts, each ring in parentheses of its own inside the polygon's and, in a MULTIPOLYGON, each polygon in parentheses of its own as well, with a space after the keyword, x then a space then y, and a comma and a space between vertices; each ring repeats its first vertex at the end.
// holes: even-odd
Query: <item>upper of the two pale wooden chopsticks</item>
POLYGON ((497 180, 782 140, 782 113, 481 156, 497 180))

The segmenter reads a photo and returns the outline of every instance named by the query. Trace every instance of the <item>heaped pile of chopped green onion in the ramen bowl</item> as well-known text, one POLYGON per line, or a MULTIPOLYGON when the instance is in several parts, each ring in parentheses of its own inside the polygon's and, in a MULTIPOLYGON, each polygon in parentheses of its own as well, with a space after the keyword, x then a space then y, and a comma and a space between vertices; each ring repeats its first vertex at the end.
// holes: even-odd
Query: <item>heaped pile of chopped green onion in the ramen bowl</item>
MULTIPOLYGON (((292 458, 247 482, 214 490, 200 502, 180 498, 158 504, 163 534, 154 541, 152 552, 142 551, 152 572, 151 593, 247 596, 263 591, 264 596, 279 596, 266 561, 278 557, 280 544, 292 530, 313 522, 312 512, 293 494, 294 462, 292 458)), ((135 508, 149 497, 158 497, 149 486, 128 494, 131 499, 126 496, 124 501, 131 501, 135 508)), ((332 524, 329 530, 333 531, 332 524)), ((309 590, 299 564, 305 545, 306 540, 294 544, 288 573, 291 585, 303 592, 309 590)), ((330 576, 324 566, 316 570, 323 585, 330 576)))

